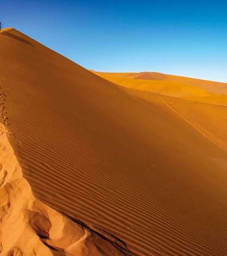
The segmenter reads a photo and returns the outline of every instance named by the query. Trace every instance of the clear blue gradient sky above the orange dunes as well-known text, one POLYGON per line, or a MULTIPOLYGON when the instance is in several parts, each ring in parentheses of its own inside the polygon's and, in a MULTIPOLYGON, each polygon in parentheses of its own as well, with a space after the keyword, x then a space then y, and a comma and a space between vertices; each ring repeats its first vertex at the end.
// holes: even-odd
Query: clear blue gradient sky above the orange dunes
POLYGON ((1 1, 14 27, 87 69, 227 82, 227 1, 1 1))

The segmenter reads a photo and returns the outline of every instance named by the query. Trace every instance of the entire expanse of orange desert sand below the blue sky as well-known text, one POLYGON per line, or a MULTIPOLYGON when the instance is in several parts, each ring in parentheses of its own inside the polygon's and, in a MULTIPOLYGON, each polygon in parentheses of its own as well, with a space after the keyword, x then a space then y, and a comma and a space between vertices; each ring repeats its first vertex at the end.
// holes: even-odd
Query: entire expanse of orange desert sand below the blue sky
POLYGON ((227 255, 227 84, 0 45, 1 255, 227 255))

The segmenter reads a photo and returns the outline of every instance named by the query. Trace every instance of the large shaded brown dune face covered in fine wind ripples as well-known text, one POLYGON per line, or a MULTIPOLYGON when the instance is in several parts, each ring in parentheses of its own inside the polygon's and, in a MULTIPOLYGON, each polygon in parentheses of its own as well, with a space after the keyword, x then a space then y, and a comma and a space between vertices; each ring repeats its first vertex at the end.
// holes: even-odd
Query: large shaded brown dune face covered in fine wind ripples
POLYGON ((121 88, 14 29, 0 44, 5 125, 37 199, 125 255, 227 254, 226 136, 208 119, 225 124, 224 107, 121 88))

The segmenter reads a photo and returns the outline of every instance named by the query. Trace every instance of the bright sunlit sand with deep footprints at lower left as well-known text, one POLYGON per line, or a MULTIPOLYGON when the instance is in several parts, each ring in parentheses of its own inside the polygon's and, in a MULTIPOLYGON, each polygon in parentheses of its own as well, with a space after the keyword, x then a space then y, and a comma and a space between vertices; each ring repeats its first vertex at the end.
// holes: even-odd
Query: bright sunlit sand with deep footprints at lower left
MULTIPOLYGON (((1 105, 2 107, 2 105, 1 105)), ((0 126, 0 253, 32 255, 127 255, 124 245, 37 200, 0 126)), ((14 143, 18 143, 14 141, 14 143)), ((128 253, 128 255, 130 255, 128 253)))

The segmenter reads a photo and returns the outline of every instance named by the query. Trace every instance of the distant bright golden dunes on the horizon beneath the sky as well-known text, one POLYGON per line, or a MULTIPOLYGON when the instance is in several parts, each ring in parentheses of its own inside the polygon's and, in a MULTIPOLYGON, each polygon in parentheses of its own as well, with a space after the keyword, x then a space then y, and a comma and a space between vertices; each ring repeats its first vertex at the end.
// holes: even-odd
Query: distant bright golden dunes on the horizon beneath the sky
POLYGON ((92 72, 106 80, 128 88, 174 97, 191 97, 192 100, 216 103, 217 105, 227 103, 226 97, 222 100, 219 97, 220 95, 227 95, 226 83, 165 75, 156 72, 109 73, 93 70, 92 72))

